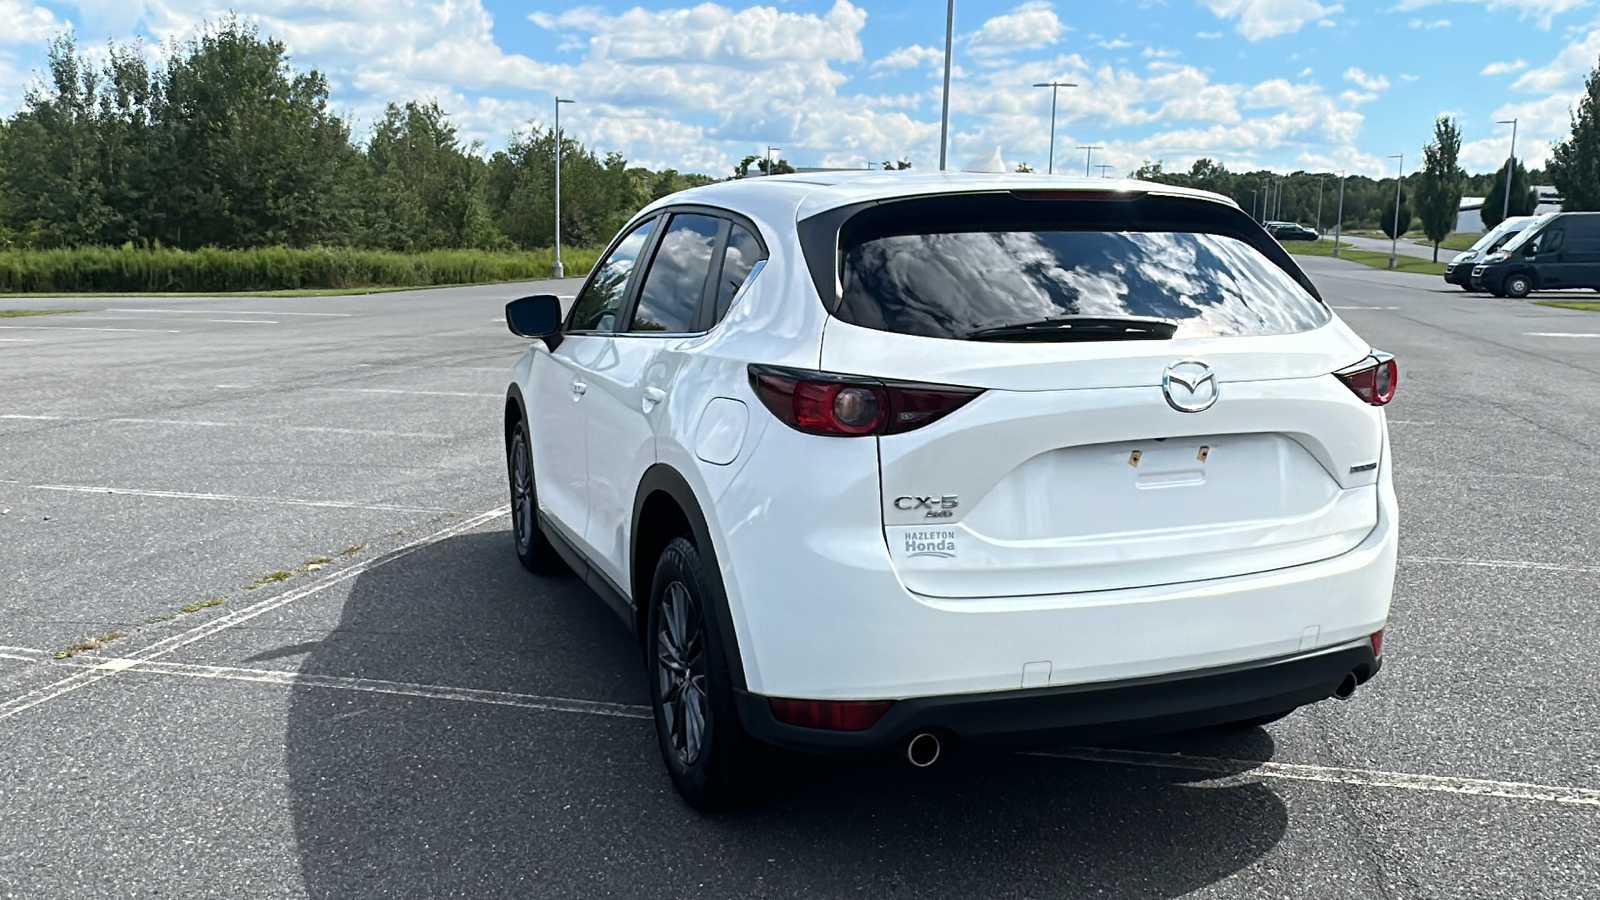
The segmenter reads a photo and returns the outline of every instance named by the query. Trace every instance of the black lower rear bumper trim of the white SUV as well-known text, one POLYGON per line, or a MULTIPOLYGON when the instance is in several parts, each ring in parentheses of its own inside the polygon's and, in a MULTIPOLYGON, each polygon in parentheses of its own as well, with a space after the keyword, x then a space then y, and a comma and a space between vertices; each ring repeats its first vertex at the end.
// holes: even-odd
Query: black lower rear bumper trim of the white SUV
POLYGON ((1373 677, 1382 660, 1354 641, 1286 658, 1066 687, 901 700, 870 729, 835 732, 773 719, 768 698, 739 693, 739 717, 768 743, 811 753, 880 751, 922 732, 978 746, 1098 741, 1200 729, 1286 713, 1333 697, 1346 676, 1373 677))

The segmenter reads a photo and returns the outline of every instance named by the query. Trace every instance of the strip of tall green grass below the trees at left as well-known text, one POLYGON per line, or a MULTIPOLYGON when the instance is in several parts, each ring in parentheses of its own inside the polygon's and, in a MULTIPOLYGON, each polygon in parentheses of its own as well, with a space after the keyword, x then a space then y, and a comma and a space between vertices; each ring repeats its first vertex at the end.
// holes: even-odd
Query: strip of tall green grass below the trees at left
MULTIPOLYGON (((600 248, 563 248, 576 274, 600 248)), ((547 279, 554 250, 429 250, 392 253, 352 248, 170 250, 78 247, 0 251, 0 295, 170 293, 307 296, 374 288, 478 285, 547 279)))

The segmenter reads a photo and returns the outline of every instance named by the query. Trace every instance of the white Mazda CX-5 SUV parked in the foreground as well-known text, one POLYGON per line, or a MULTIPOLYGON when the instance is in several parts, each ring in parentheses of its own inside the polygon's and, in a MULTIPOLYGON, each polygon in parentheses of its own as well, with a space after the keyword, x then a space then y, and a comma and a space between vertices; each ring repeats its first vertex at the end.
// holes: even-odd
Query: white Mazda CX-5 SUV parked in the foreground
POLYGON ((802 175, 506 307, 517 554, 635 629, 683 798, 773 746, 1277 719, 1379 666, 1395 364, 1232 202, 802 175))

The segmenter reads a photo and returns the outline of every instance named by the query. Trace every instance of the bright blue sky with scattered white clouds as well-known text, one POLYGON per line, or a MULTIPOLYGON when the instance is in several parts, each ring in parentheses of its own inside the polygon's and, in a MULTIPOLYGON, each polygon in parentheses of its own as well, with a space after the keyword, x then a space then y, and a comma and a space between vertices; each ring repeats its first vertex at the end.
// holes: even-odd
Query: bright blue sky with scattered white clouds
MULTIPOLYGON (((768 146, 795 165, 938 162, 939 0, 0 0, 0 110, 64 29, 150 53, 237 10, 325 70, 365 130, 390 99, 437 99, 486 147, 555 93, 563 127, 653 167, 726 173, 768 146)), ((1000 147, 1045 168, 1394 171, 1421 163, 1438 114, 1464 163, 1533 165, 1600 61, 1600 0, 957 0, 952 163, 1000 147)))

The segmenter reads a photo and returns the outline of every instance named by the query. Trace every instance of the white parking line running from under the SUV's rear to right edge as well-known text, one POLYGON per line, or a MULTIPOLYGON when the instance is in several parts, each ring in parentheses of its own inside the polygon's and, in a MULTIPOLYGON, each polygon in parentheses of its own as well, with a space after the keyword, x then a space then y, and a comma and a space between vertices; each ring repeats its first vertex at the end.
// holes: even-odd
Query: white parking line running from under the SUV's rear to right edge
POLYGON ((1560 788, 1555 785, 1533 785, 1528 781, 1491 781, 1486 778, 1413 775, 1408 772, 1339 769, 1334 765, 1296 765, 1290 762, 1254 762, 1248 759, 1184 756, 1178 753, 1142 753, 1131 749, 1056 749, 1034 753, 1030 756, 1050 756, 1056 759, 1074 759, 1078 762, 1107 762, 1112 765, 1144 765, 1152 769, 1210 772, 1240 780, 1288 778, 1293 781, 1323 781, 1330 785, 1357 785, 1362 788, 1400 788, 1406 791, 1434 791, 1442 794, 1600 806, 1600 790, 1560 788))

